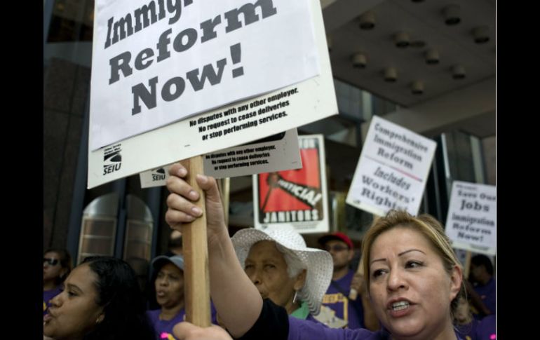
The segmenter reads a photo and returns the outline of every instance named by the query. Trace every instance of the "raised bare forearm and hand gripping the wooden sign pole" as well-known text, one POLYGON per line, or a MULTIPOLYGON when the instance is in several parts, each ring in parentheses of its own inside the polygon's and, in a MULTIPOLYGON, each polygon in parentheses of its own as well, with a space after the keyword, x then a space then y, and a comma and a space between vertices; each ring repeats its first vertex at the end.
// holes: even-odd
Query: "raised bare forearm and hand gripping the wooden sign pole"
MULTIPOLYGON (((180 231, 182 223, 193 222, 202 216, 201 210, 192 203, 199 195, 184 181, 187 169, 180 163, 170 168, 169 175, 167 189, 170 195, 165 219, 172 229, 180 231)), ((239 337, 255 324, 261 313, 262 298, 234 252, 215 179, 197 175, 196 181, 205 191, 210 295, 224 325, 234 337, 239 337)))

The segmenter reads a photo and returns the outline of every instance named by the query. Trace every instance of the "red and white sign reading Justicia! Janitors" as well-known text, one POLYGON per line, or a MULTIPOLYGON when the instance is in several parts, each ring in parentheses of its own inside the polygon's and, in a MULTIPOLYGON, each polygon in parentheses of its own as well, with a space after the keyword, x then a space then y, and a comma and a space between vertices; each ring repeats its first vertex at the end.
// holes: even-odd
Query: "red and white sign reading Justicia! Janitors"
POLYGON ((302 169, 253 175, 255 228, 293 226, 299 233, 330 228, 323 135, 298 139, 302 169))

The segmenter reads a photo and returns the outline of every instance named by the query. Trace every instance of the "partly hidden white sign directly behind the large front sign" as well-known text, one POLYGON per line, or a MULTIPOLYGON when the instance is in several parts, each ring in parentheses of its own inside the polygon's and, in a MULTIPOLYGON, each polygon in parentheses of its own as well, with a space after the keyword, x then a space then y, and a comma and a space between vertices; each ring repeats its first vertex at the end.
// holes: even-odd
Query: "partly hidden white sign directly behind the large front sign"
MULTIPOLYGON (((166 185, 170 165, 140 173, 141 187, 166 185)), ((204 174, 215 178, 302 168, 296 129, 206 154, 204 174)))

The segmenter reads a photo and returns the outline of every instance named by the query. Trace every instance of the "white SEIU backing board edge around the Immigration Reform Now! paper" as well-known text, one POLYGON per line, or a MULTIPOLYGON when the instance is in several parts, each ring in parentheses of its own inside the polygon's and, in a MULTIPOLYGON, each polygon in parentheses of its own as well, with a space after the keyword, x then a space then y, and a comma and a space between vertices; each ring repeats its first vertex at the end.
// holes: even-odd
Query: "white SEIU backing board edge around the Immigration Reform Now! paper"
MULTIPOLYGON (((337 114, 320 2, 311 0, 309 4, 311 8, 307 13, 313 20, 316 53, 320 62, 318 76, 250 100, 198 114, 95 151, 89 149, 88 188, 185 158, 275 135, 337 114)), ((288 23, 290 22, 284 25, 288 23)), ((297 34, 292 30, 288 32, 292 33, 297 34)), ((277 33, 276 37, 283 39, 283 36, 277 33)), ((281 48, 278 48, 274 54, 281 52, 281 48)), ((247 74, 246 66, 243 67, 247 74)), ((265 68, 259 69, 264 72, 265 68)), ((285 72, 280 69, 277 73, 285 72)), ((264 74, 264 79, 266 74, 270 76, 269 72, 264 74)))

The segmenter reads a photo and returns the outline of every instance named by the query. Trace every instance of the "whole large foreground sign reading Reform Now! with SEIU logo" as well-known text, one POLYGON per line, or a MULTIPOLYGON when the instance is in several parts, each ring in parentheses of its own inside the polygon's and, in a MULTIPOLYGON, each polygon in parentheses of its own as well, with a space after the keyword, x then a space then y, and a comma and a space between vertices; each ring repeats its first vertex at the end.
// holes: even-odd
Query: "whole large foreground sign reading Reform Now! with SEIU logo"
MULTIPOLYGON (((165 108, 168 104, 172 105, 179 100, 197 101, 197 98, 201 98, 200 93, 205 93, 205 95, 202 96, 203 101, 214 100, 215 97, 220 97, 222 99, 216 104, 220 106, 216 109, 207 108, 208 111, 196 114, 196 116, 189 116, 161 128, 149 130, 140 133, 139 135, 129 137, 126 140, 121 140, 121 142, 107 144, 107 146, 97 150, 93 150, 89 147, 88 189, 147 170, 159 170, 163 165, 175 163, 182 159, 210 154, 217 150, 253 142, 337 114, 334 81, 332 79, 330 57, 328 56, 328 45, 326 43, 320 0, 223 0, 211 1, 212 6, 208 6, 208 1, 147 0, 146 4, 154 4, 154 6, 156 6, 157 21, 154 22, 154 24, 148 25, 141 31, 135 32, 134 29, 133 34, 129 36, 126 31, 126 37, 124 39, 120 39, 121 33, 119 33, 119 41, 113 44, 114 31, 116 30, 116 28, 114 28, 114 22, 119 21, 120 18, 127 18, 126 13, 132 13, 132 20, 135 20, 133 19, 135 18, 135 10, 133 10, 133 8, 135 4, 140 4, 141 1, 117 2, 124 4, 125 6, 116 6, 116 2, 113 1, 107 2, 98 0, 96 2, 96 13, 106 9, 110 10, 112 7, 115 8, 112 16, 105 16, 105 18, 108 19, 113 18, 111 26, 112 45, 109 46, 109 48, 123 46, 123 43, 128 42, 133 44, 134 46, 125 46, 125 49, 122 48, 118 51, 118 53, 123 53, 123 51, 126 50, 131 51, 132 64, 130 65, 132 67, 134 61, 135 66, 137 65, 137 60, 143 64, 146 64, 151 60, 153 61, 151 61, 151 64, 145 69, 137 70, 134 68, 133 74, 130 76, 123 76, 123 73, 121 73, 121 77, 114 84, 123 84, 123 86, 116 90, 109 90, 108 95, 114 96, 114 100, 104 99, 104 104, 102 104, 100 100, 94 100, 94 98, 92 98, 94 105, 107 111, 107 116, 104 116, 105 123, 107 123, 110 116, 110 125, 114 127, 113 130, 123 130, 123 121, 116 121, 119 119, 119 116, 129 117, 128 119, 144 116, 144 119, 149 119, 151 121, 158 119, 161 121, 165 118, 158 113, 161 110, 158 109, 158 107, 162 107, 163 105, 165 105, 163 107, 165 108), (182 4, 182 12, 181 18, 177 18, 178 20, 173 24, 168 24, 170 20, 173 20, 173 18, 180 15, 180 10, 178 10, 179 12, 168 12, 167 6, 170 6, 169 3, 171 2, 174 4, 182 4), (201 3, 204 5, 201 6, 201 3), (99 4, 101 4, 101 6, 99 4), (104 6, 103 4, 107 4, 107 6, 104 6), (165 7, 160 8, 161 4, 165 7), (231 8, 236 8, 238 11, 243 11, 242 13, 244 13, 240 14, 238 17, 240 18, 241 28, 234 29, 230 32, 226 32, 227 20, 225 20, 225 18, 227 15, 217 13, 217 8, 223 8, 227 4, 229 4, 230 8, 227 7, 227 10, 223 9, 223 11, 225 11, 224 13, 232 11, 231 8), (297 6, 301 6, 302 9, 293 11, 297 6), (276 8, 276 14, 270 15, 269 13, 272 11, 269 10, 269 8, 276 8), (255 11, 256 15, 253 14, 253 11, 255 11), (165 15, 165 17, 158 20, 161 18, 160 15, 165 15), (305 15, 307 15, 307 18, 305 15), (178 53, 177 50, 174 50, 174 44, 175 41, 177 41, 176 36, 179 34, 178 32, 184 32, 185 29, 188 29, 188 27, 184 25, 184 19, 187 19, 187 17, 198 18, 199 23, 205 22, 208 18, 212 18, 212 20, 215 19, 212 22, 216 24, 216 37, 209 39, 208 41, 201 41, 205 30, 201 29, 200 26, 196 26, 199 27, 198 40, 194 43, 194 46, 188 50, 178 53), (255 20, 255 18, 257 18, 257 20, 255 20), (287 19, 276 20, 277 18, 287 19), (306 40, 304 40, 304 38, 299 38, 306 34, 306 30, 299 30, 297 26, 299 25, 299 20, 302 20, 303 22, 307 21, 302 25, 312 27, 314 31, 314 41, 313 39, 308 39, 309 37, 306 37, 306 40), (221 22, 220 25, 217 24, 218 21, 221 22), (167 28, 154 28, 158 27, 160 22, 163 25, 166 25, 167 28), (270 28, 263 29, 263 27, 266 27, 267 25, 269 25, 270 28), (157 61, 156 53, 158 53, 158 49, 156 50, 156 39, 159 41, 161 34, 166 32, 169 28, 173 29, 169 36, 171 41, 168 45, 166 44, 166 46, 168 46, 170 57, 157 61), (139 40, 141 36, 144 36, 143 33, 147 29, 156 29, 156 32, 154 32, 155 35, 149 34, 148 36, 149 39, 153 40, 147 45, 144 45, 149 46, 149 48, 154 48, 154 59, 150 57, 148 60, 143 57, 137 59, 137 52, 139 51, 137 50, 137 46, 144 44, 144 41, 139 40), (250 33, 247 34, 246 32, 250 33), (256 39, 253 39, 254 36, 256 39), (233 39, 233 37, 242 37, 245 41, 238 41, 237 39, 233 39), (286 47, 289 43, 285 43, 285 41, 288 41, 289 39, 292 39, 292 41, 300 39, 301 41, 297 41, 299 44, 296 42, 292 43, 292 49, 289 49, 286 47), (221 47, 217 46, 215 48, 209 48, 208 50, 205 50, 206 47, 203 48, 203 46, 210 46, 218 41, 223 41, 222 45, 220 45, 221 47), (310 45, 309 41, 311 41, 313 45, 310 45), (238 63, 236 62, 236 54, 233 53, 231 55, 231 46, 236 45, 236 43, 241 44, 241 61, 238 63), (197 46, 199 46, 199 49, 202 48, 208 53, 196 53, 198 50, 197 46), (298 51, 300 46, 302 46, 301 53, 298 51), (310 61, 312 60, 310 57, 312 50, 315 50, 316 52, 316 60, 318 60, 320 74, 299 83, 291 83, 294 81, 290 78, 290 68, 304 69, 304 74, 311 74, 309 69, 313 69, 313 67, 309 65, 312 64, 310 61), (296 52, 292 53, 292 51, 296 52), (250 57, 251 53, 261 53, 262 55, 253 58, 250 57), (297 53, 299 53, 299 55, 297 53), (164 69, 159 68, 159 65, 168 63, 170 60, 173 60, 180 55, 184 55, 185 57, 187 54, 190 55, 188 61, 191 65, 208 65, 211 60, 226 59, 226 64, 224 64, 222 69, 220 83, 215 81, 212 83, 212 79, 216 79, 214 76, 211 76, 212 72, 217 72, 216 77, 219 76, 219 65, 217 65, 216 62, 213 62, 212 66, 206 67, 206 69, 210 69, 210 71, 206 71, 207 76, 205 76, 203 88, 200 90, 193 90, 191 88, 191 81, 194 79, 193 76, 191 76, 191 78, 189 76, 186 77, 185 71, 194 69, 186 66, 189 65, 189 63, 173 62, 174 65, 171 64, 170 67, 165 67, 164 69), (229 55, 229 57, 224 57, 224 55, 229 55), (233 55, 235 56, 233 57, 233 55), (283 57, 285 57, 285 60, 283 60, 283 57), (252 60, 252 62, 248 62, 248 60, 252 60), (298 60, 302 61, 298 64, 298 60), (267 65, 276 66, 276 64, 278 64, 278 69, 266 67, 267 65), (154 69, 155 67, 158 68, 154 69), (177 87, 175 87, 173 83, 182 83, 180 79, 175 78, 178 76, 178 74, 175 73, 176 71, 174 71, 177 67, 184 69, 184 75, 182 76, 182 74, 180 74, 180 77, 184 79, 186 87, 183 88, 184 92, 180 97, 173 99, 175 96, 168 97, 168 92, 163 92, 163 83, 161 80, 165 79, 164 82, 166 82, 170 79, 174 79, 168 83, 168 86, 170 87, 168 87, 167 91, 176 93, 174 91, 176 91, 177 87), (243 75, 241 76, 238 76, 238 74, 240 74, 238 72, 238 67, 241 67, 243 70, 243 75), (258 74, 258 76, 252 76, 253 72, 258 74), (234 77, 233 73, 237 76, 234 77), (208 76, 208 74, 210 74, 210 76, 208 76), (131 83, 137 76, 142 78, 146 77, 146 79, 140 79, 139 81, 135 81, 135 83, 131 83), (132 96, 131 99, 133 100, 133 86, 137 86, 137 84, 142 82, 143 84, 146 83, 147 88, 149 88, 149 79, 153 79, 156 76, 158 77, 158 83, 156 83, 156 95, 158 97, 156 98, 156 107, 154 107, 154 109, 147 109, 146 105, 150 104, 151 101, 148 102, 147 100, 147 104, 144 104, 142 99, 139 100, 142 111, 134 115, 130 114, 131 111, 126 115, 126 112, 121 113, 108 106, 109 104, 113 106, 117 105, 117 96, 120 97, 126 93, 128 93, 128 96, 132 96), (274 79, 276 77, 280 79, 280 82, 283 79, 288 79, 288 81, 281 85, 285 87, 272 90, 275 83, 273 84, 269 79, 274 79), (247 81, 247 79, 249 79, 249 81, 247 81), (233 100, 231 98, 241 98, 246 95, 245 91, 250 91, 252 88, 264 90, 262 90, 263 92, 257 97, 250 97, 249 99, 231 102, 231 100, 233 100), (223 93, 221 93, 222 91, 223 93), (227 98, 224 99, 224 93, 230 94, 230 91, 232 91, 234 95, 227 95, 227 98), (163 98, 159 99, 159 96, 163 95, 173 100, 168 102, 163 100, 163 98), (225 104, 227 102, 231 103, 225 104), (119 125, 116 125, 117 123, 119 125)), ((229 14, 227 18, 236 18, 236 12, 229 14)), ((109 25, 108 19, 102 20, 101 22, 102 29, 105 31, 107 31, 107 25, 109 25)), ((142 27, 144 27, 144 20, 142 20, 142 23, 142 27)), ((151 23, 151 20, 149 23, 151 23)), ((137 20, 132 21, 132 25, 137 25, 137 20)), ((207 23, 205 25, 210 24, 207 23)), ((194 29, 196 29, 196 27, 194 29)), ((96 25, 94 25, 94 30, 97 30, 96 25)), ((187 32, 192 31, 188 30, 187 32)), ((188 34, 187 32, 184 34, 188 34)), ((97 37, 97 33, 94 34, 93 46, 95 52, 104 48, 103 44, 105 42, 103 39, 105 39, 105 41, 107 39, 107 36, 104 35, 107 34, 107 32, 101 33, 101 39, 97 37)), ((183 38, 182 41, 182 43, 187 43, 188 40, 187 38, 183 38)), ((105 50, 108 51, 109 48, 106 48, 105 50)), ((147 52, 150 53, 149 51, 147 52)), ((111 58, 112 57, 113 56, 111 56, 111 58)), ((95 60, 96 59, 94 59, 93 62, 95 62, 95 60)), ((100 67, 96 66, 97 69, 93 68, 93 76, 97 76, 95 72, 98 71, 104 73, 105 75, 100 76, 107 80, 107 76, 110 76, 109 60, 103 61, 102 59, 101 62, 104 62, 104 64, 101 64, 100 67)), ((142 64, 140 66, 142 66, 142 64)), ((198 76, 203 76, 203 74, 205 74, 204 72, 204 67, 202 67, 198 76)), ((298 74, 297 70, 292 72, 292 74, 298 74)), ((100 82, 95 83, 96 80, 97 79, 93 79, 92 91, 103 92, 104 90, 99 89, 99 87, 103 87, 104 85, 100 82)), ((106 85, 105 87, 108 88, 106 85)), ((182 86, 180 86, 180 90, 182 90, 182 86)), ((131 110, 133 102, 128 102, 127 105, 128 109, 131 110)), ((93 107, 93 109, 96 110, 97 107, 93 107)), ((122 105, 121 107, 117 107, 117 109, 125 110, 126 108, 122 105)), ((184 104, 179 105, 175 109, 163 109, 163 111, 166 115, 173 114, 175 116, 182 116, 186 114, 184 104)), ((90 117, 90 121, 93 121, 93 117, 90 117)), ((92 140, 92 138, 92 134, 90 134, 90 140, 92 140)), ((156 173, 155 175, 156 177, 163 177, 163 173, 156 173)))

